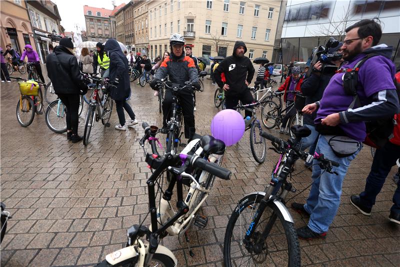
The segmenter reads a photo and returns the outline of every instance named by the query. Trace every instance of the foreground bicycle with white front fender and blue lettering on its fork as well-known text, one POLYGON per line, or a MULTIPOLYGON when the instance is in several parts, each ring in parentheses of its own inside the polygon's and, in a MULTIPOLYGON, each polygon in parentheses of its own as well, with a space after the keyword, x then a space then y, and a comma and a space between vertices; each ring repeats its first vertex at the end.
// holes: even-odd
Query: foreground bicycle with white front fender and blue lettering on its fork
POLYGON ((300 150, 301 138, 310 134, 308 128, 296 125, 292 131, 295 137, 290 137, 287 142, 266 132, 260 133, 272 142, 272 149, 280 156, 265 190, 245 195, 237 202, 229 218, 223 245, 225 267, 274 266, 276 262, 282 266, 300 266, 294 221, 285 207, 288 201, 285 198, 295 189, 287 178, 291 176, 297 159, 308 163, 318 160, 320 167, 329 173, 335 173, 332 168, 339 164, 322 154, 310 155, 300 150))

